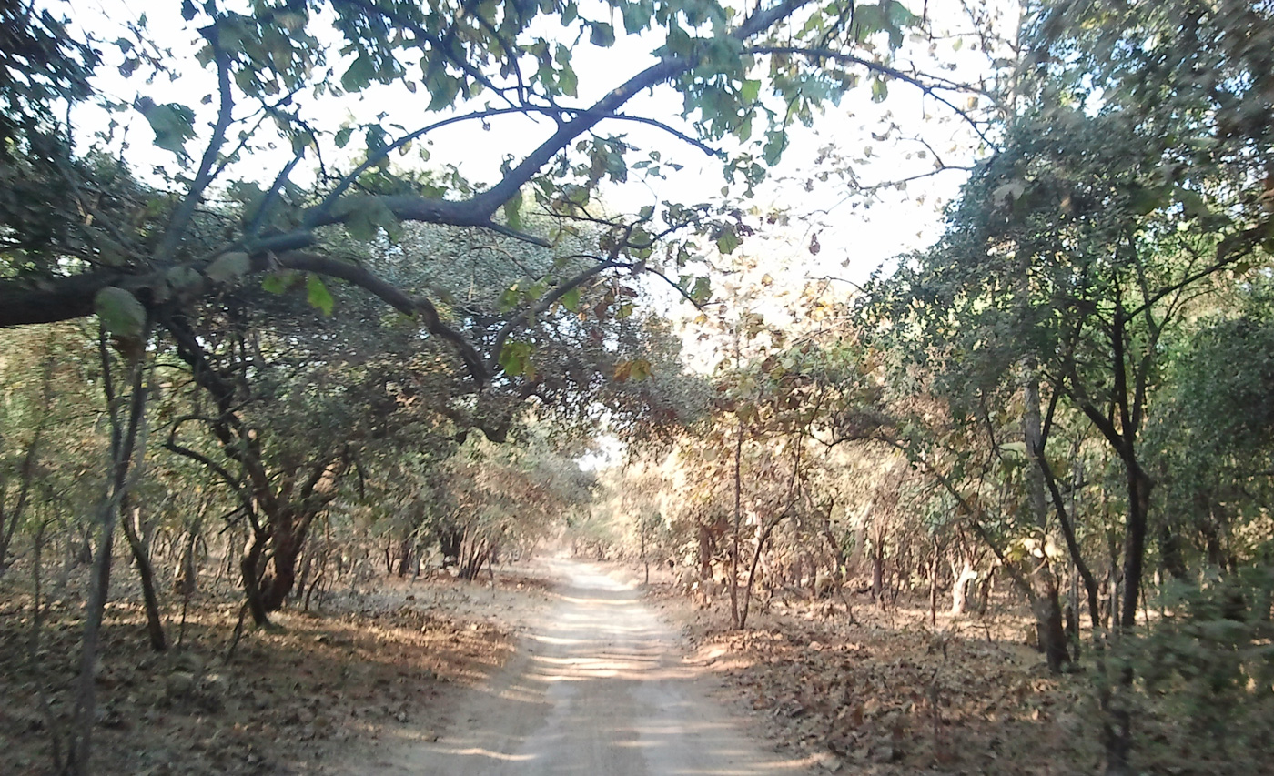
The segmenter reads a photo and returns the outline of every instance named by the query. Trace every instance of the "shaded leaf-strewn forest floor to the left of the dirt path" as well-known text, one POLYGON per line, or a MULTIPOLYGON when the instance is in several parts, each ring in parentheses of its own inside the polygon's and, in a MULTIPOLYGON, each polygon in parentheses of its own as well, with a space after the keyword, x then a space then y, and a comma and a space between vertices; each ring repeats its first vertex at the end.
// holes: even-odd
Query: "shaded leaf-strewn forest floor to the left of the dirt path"
MULTIPOLYGON (((338 589, 313 612, 276 614, 276 628, 245 628, 227 660, 240 612, 231 591, 197 596, 183 632, 180 607, 166 610, 176 646, 157 654, 124 582, 103 629, 93 772, 340 773, 343 763, 375 758, 382 736, 429 736, 466 687, 511 656, 520 624, 547 607, 548 586, 526 564, 498 568, 494 582, 446 573, 372 580, 338 589)), ((33 655, 29 593, 14 580, 0 589, 8 776, 54 771, 50 747, 68 724, 80 612, 78 601, 54 598, 33 655)))

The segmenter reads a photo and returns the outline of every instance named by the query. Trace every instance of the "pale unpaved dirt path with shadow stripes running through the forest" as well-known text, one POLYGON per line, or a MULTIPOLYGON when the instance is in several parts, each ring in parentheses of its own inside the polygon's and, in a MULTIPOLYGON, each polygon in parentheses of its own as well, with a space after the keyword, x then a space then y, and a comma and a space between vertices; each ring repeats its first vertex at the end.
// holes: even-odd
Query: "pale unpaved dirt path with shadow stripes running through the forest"
POLYGON ((517 655, 448 715, 437 740, 390 743, 359 776, 576 773, 761 776, 806 763, 762 753, 707 696, 703 669, 626 585, 547 561, 555 599, 517 655))

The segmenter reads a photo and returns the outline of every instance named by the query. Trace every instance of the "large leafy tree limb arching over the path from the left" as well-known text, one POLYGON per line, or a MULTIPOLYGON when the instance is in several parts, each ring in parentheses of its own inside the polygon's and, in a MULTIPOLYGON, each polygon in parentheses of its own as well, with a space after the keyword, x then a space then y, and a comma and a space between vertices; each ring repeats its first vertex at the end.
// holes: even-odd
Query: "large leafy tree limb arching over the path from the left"
MULTIPOLYGON (((524 196, 534 196, 545 213, 587 215, 590 192, 604 178, 626 180, 627 159, 634 152, 619 138, 592 133, 604 121, 664 126, 655 119, 622 112, 642 89, 660 84, 683 94, 698 138, 669 131, 705 149, 705 141, 734 135, 743 145, 726 169, 750 183, 763 175, 764 164, 777 161, 787 121, 810 121, 824 103, 865 79, 882 96, 888 80, 931 94, 956 88, 943 79, 927 80, 894 68, 891 51, 902 43, 907 27, 921 22, 894 0, 843 8, 790 1, 749 14, 716 4, 648 1, 595 10, 600 17, 590 18, 575 3, 512 4, 465 6, 464 13, 457 8, 452 15, 426 14, 408 3, 335 0, 265 5, 243 15, 217 4, 182 4, 183 28, 197 34, 199 59, 215 82, 204 99, 209 110, 215 108, 208 136, 200 126, 203 108, 194 102, 159 104, 143 94, 130 108, 93 90, 68 92, 66 99, 74 103, 97 103, 115 113, 141 112, 155 144, 173 155, 173 169, 182 175, 169 176, 167 187, 118 196, 107 192, 102 171, 85 164, 87 157, 74 157, 62 148, 51 164, 56 175, 50 173, 41 185, 69 186, 69 206, 50 208, 39 219, 6 219, 13 229, 11 260, 19 251, 28 266, 25 279, 39 277, 46 283, 0 287, 5 302, 0 322, 84 316, 94 306, 113 305, 108 298, 98 299, 98 292, 111 287, 127 291, 152 312, 180 310, 248 277, 293 269, 362 285, 397 310, 420 315, 432 334, 461 350, 475 380, 485 382, 499 366, 499 352, 479 357, 455 322, 438 317, 433 301, 396 293, 333 256, 320 245, 318 229, 340 224, 357 238, 369 240, 382 228, 392 233, 399 222, 419 220, 480 227, 547 245, 543 237, 520 231, 524 196), (664 45, 655 51, 655 64, 592 104, 575 107, 569 102, 580 85, 572 57, 578 55, 540 37, 543 17, 557 17, 568 31, 601 48, 614 43, 614 22, 622 17, 627 34, 662 36, 664 45), (333 40, 340 41, 343 54, 325 42, 333 40), (803 68, 803 60, 814 68, 803 68), (437 120, 395 133, 378 121, 330 126, 311 117, 317 99, 381 87, 403 89, 413 103, 426 102, 427 93, 427 111, 437 120), (767 97, 761 93, 763 87, 767 97), (419 98, 412 97, 422 88, 419 98), (252 119, 245 120, 243 111, 252 119), (457 175, 420 176, 389 164, 391 154, 422 143, 441 126, 510 116, 548 117, 555 130, 525 158, 510 161, 492 186, 479 189, 457 175), (752 140, 754 125, 764 140, 752 140), (363 143, 358 161, 344 172, 329 166, 326 161, 339 158, 355 135, 363 143), (196 141, 205 141, 200 153, 191 148, 196 141), (259 173, 259 159, 269 158, 262 153, 270 144, 293 152, 271 181, 234 177, 245 168, 259 173), (753 155, 753 147, 764 152, 763 158, 753 155), (317 186, 293 181, 303 169, 317 173, 317 186), (209 223, 203 214, 214 191, 243 201, 242 213, 209 223), (501 212, 503 222, 496 219, 501 212), (82 218, 82 213, 92 218, 82 218), (23 232, 31 224, 50 222, 50 228, 23 232), (69 256, 74 261, 68 265, 62 260, 69 256)), ((147 36, 139 25, 116 43, 124 57, 121 70, 134 76, 143 71, 182 75, 155 56, 159 48, 147 36)), ((62 70, 69 71, 69 65, 62 70)), ((87 83, 94 82, 89 78, 87 83)), ((122 175, 129 175, 127 167, 122 175)), ((606 232, 609 248, 604 241, 604 260, 592 274, 614 269, 675 274, 683 254, 673 251, 664 261, 651 252, 652 237, 668 228, 692 226, 715 240, 736 238, 735 227, 702 220, 702 215, 669 205, 660 214, 651 210, 637 219, 612 220, 618 231, 606 232), (647 224, 656 215, 659 226, 651 228, 647 224)), ((669 279, 693 282, 693 277, 669 279)), ((564 296, 571 288, 562 282, 547 292, 564 296)), ((127 320, 138 308, 115 312, 127 320)))

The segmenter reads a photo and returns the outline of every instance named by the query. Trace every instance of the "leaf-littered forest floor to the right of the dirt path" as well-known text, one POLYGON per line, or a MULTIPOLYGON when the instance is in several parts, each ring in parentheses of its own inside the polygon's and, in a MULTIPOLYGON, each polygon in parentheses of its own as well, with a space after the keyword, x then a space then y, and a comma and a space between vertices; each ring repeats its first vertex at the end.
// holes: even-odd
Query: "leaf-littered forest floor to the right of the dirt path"
POLYGON ((868 595, 842 601, 787 591, 768 607, 753 600, 748 629, 731 631, 725 594, 705 608, 659 571, 647 590, 682 627, 692 660, 720 677, 722 703, 777 751, 819 759, 827 771, 1101 770, 1091 683, 1049 674, 1024 645, 1033 626, 1018 608, 982 618, 939 610, 934 626, 927 599, 880 608, 868 595))

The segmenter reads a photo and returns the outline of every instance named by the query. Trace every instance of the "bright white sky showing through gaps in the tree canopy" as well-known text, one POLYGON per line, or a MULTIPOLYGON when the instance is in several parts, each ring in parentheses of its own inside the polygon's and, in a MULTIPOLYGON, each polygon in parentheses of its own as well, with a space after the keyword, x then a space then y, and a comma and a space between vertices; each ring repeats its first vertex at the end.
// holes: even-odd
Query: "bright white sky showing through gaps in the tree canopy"
MULTIPOLYGON (((920 5, 920 0, 912 5, 920 5)), ((952 13, 949 19, 938 19, 939 27, 956 31, 970 31, 972 24, 956 3, 927 4, 930 13, 952 13), (941 6, 943 10, 938 10, 941 6)), ((102 85, 125 103, 131 103, 139 94, 147 94, 157 103, 181 102, 199 111, 199 127, 206 133, 215 104, 199 106, 197 97, 215 93, 215 83, 209 71, 203 70, 192 60, 182 62, 192 55, 194 33, 183 29, 180 17, 180 3, 176 0, 70 0, 74 20, 102 43, 107 66, 102 85), (143 83, 138 76, 131 79, 116 75, 113 66, 122 61, 122 55, 112 43, 117 37, 131 37, 124 28, 136 23, 147 14, 149 34, 164 47, 172 47, 172 55, 166 61, 173 64, 173 70, 182 74, 176 82, 161 75, 154 83, 143 83), (112 27, 120 28, 113 32, 112 27)), ((1008 27, 1015 24, 1015 6, 1012 0, 977 4, 978 13, 992 13, 994 8, 1004 9, 1008 27)), ((920 8, 915 9, 917 13, 920 8)), ((549 24, 549 22, 545 22, 549 24)), ((617 24, 622 33, 622 24, 617 24)), ((956 51, 956 38, 940 38, 930 46, 929 41, 908 42, 905 57, 919 62, 921 70, 934 71, 934 56, 950 62, 954 69, 944 71, 953 79, 976 79, 987 71, 987 62, 994 55, 976 51, 971 45, 975 38, 961 40, 962 50, 956 51), (933 48, 934 54, 930 54, 933 48)), ((596 50, 581 46, 575 52, 575 68, 580 74, 580 104, 587 104, 606 90, 622 83, 629 75, 650 64, 650 51, 660 45, 648 37, 627 37, 620 34, 615 46, 609 50, 596 50)), ((338 71, 340 69, 338 68, 338 71)), ((422 99, 424 92, 420 92, 422 99)), ((482 102, 483 98, 479 98, 482 102)), ((246 106, 245 106, 246 107, 246 106)), ((480 107, 469 106, 466 110, 480 107)), ((660 88, 634 98, 626 112, 645 115, 668 121, 684 131, 691 127, 679 117, 680 97, 670 88, 660 88)), ((426 121, 434 121, 437 115, 422 117, 414 101, 404 101, 400 89, 373 87, 361 96, 345 98, 325 97, 321 104, 308 108, 308 113, 320 119, 320 125, 336 127, 348 119, 369 121, 377 113, 387 113, 386 122, 397 122, 408 130, 426 121)), ((117 115, 117 121, 126 122, 129 158, 140 161, 144 166, 173 168, 175 161, 168 152, 150 145, 152 133, 140 113, 130 111, 117 115)), ((103 126, 101 116, 82 116, 82 129, 103 126)), ((499 164, 506 157, 520 158, 553 131, 548 120, 531 121, 525 117, 510 116, 493 120, 490 129, 483 131, 476 122, 466 122, 440 130, 432 135, 429 144, 433 163, 454 163, 473 181, 493 181, 498 176, 499 164)), ((674 199, 682 203, 706 201, 720 196, 724 180, 719 164, 702 152, 676 140, 671 135, 654 127, 629 122, 606 122, 600 127, 603 134, 627 134, 629 143, 642 149, 657 149, 665 159, 684 164, 679 173, 670 173, 666 181, 637 180, 633 175, 623 186, 610 186, 604 192, 609 209, 633 212, 645 204, 657 204, 661 199, 674 199)), ((117 133, 116 139, 121 135, 117 133)), ((353 150, 358 143, 352 143, 353 150)), ((897 180, 934 168, 933 153, 936 152, 949 166, 968 166, 985 149, 977 149, 971 134, 958 122, 953 122, 949 112, 931 99, 922 99, 920 93, 902 83, 891 84, 889 98, 883 104, 869 99, 869 89, 864 85, 846 96, 840 107, 828 106, 828 113, 815 122, 814 129, 795 127, 792 141, 784 162, 772 171, 769 181, 758 191, 750 203, 759 213, 773 209, 790 215, 786 227, 767 227, 766 233, 744 242, 740 255, 755 260, 757 270, 752 277, 740 275, 740 283, 755 280, 762 274, 775 279, 771 296, 773 305, 781 303, 784 294, 799 292, 808 278, 833 275, 851 282, 864 280, 877 266, 898 254, 922 247, 931 242, 940 229, 940 205, 954 196, 964 175, 958 171, 913 182, 903 195, 887 191, 880 201, 870 209, 862 208, 862 199, 846 199, 847 187, 832 177, 818 181, 819 172, 831 169, 828 163, 819 164, 820 149, 834 145, 836 153, 857 159, 855 168, 864 182, 897 180), (947 121, 926 120, 945 117, 947 121), (915 143, 896 144, 891 140, 873 138, 885 131, 891 122, 903 127, 905 134, 921 135, 930 145, 930 155, 920 159, 915 155, 921 147, 915 143), (822 250, 817 256, 808 251, 810 238, 817 234, 822 250)), ((196 141, 190 144, 197 149, 196 141)), ((730 150, 730 149, 726 149, 730 150)), ((255 154, 251 169, 240 169, 237 175, 257 177, 268 182, 276 171, 287 163, 289 150, 255 154)), ((632 161, 636 161, 632 159, 632 161)), ((759 217, 748 219, 761 226, 759 217)), ((846 287, 850 288, 850 287, 846 287)), ((710 364, 697 364, 701 368, 710 364)))

